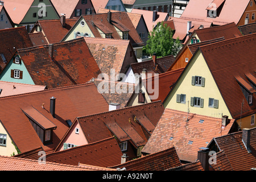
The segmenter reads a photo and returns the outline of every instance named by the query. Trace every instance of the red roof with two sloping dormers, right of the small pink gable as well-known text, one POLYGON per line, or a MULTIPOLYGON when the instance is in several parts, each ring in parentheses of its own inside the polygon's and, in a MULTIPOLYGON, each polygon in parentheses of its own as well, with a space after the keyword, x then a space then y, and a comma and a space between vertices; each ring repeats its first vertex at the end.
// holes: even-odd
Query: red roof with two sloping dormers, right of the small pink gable
POLYGON ((163 114, 163 110, 162 103, 158 101, 80 117, 77 118, 77 121, 80 123, 89 143, 111 137, 114 134, 120 141, 123 140, 122 137, 127 136, 126 140, 130 140, 135 148, 138 148, 147 143, 147 138, 143 131, 150 135, 152 133, 152 131, 147 131, 147 126, 144 126, 145 124, 140 123, 141 118, 146 117, 148 119, 147 122, 152 123, 155 127, 163 114), (119 127, 113 126, 114 128, 110 127, 109 129, 109 125, 119 127), (123 135, 121 130, 125 131, 126 135, 123 135), (110 131, 114 133, 112 134, 110 131))

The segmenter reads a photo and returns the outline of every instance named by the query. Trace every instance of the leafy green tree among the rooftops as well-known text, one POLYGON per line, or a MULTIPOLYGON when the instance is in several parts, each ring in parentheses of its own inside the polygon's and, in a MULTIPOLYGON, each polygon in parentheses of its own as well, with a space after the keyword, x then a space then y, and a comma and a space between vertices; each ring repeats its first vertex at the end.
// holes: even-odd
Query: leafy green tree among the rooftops
POLYGON ((176 56, 182 44, 179 39, 174 40, 172 38, 173 34, 174 31, 167 24, 158 22, 154 30, 148 34, 147 44, 143 47, 143 52, 150 55, 156 53, 158 57, 176 56))

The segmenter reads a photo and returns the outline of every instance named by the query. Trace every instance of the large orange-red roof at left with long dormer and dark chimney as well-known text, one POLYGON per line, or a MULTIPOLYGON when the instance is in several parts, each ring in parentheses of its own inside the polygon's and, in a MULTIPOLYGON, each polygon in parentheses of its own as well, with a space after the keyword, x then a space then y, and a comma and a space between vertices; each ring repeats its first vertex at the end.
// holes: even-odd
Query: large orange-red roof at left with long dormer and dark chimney
POLYGON ((66 122, 68 119, 73 122, 79 115, 90 115, 109 109, 108 103, 98 93, 93 83, 2 97, 0 101, 0 121, 21 152, 30 151, 40 146, 45 150, 53 150, 69 129, 66 122), (52 96, 56 98, 55 118, 49 113, 52 96), (32 107, 41 114, 41 117, 43 115, 44 119, 56 126, 56 129, 53 130, 52 144, 44 146, 30 120, 23 113, 22 110, 32 107))

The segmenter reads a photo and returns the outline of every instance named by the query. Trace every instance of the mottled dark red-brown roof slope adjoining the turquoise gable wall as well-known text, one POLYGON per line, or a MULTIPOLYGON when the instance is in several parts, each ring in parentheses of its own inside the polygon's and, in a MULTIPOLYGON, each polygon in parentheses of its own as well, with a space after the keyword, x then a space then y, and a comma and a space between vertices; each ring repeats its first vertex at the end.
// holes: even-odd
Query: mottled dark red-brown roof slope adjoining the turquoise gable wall
POLYGON ((83 38, 49 45, 19 49, 27 71, 36 85, 47 88, 83 84, 100 75, 100 69, 83 38))

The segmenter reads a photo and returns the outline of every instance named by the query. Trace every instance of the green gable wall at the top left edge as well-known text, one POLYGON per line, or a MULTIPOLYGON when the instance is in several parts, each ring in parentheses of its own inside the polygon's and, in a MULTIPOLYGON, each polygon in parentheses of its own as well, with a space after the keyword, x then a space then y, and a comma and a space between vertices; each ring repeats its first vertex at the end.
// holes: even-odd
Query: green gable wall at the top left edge
POLYGON ((32 30, 32 26, 36 23, 38 20, 38 12, 39 10, 43 10, 41 6, 38 7, 39 3, 44 3, 46 5, 46 12, 47 16, 43 16, 41 19, 59 19, 59 16, 55 9, 52 7, 49 0, 44 0, 43 2, 39 2, 39 0, 35 0, 30 9, 27 11, 27 14, 24 16, 23 20, 20 22, 19 25, 16 25, 18 27, 20 26, 27 26, 30 25, 30 30, 32 30), (36 13, 36 17, 33 17, 33 14, 36 13))

